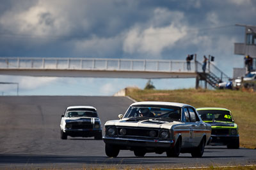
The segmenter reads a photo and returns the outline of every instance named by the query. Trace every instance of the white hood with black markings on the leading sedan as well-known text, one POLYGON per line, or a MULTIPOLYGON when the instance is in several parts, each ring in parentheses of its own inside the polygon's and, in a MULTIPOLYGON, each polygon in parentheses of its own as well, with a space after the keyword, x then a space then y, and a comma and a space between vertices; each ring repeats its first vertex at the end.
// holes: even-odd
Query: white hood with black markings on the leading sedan
POLYGON ((163 120, 109 120, 105 125, 115 125, 115 126, 126 126, 126 127, 150 127, 150 128, 162 128, 162 129, 171 129, 172 125, 183 124, 181 122, 166 122, 163 120))

